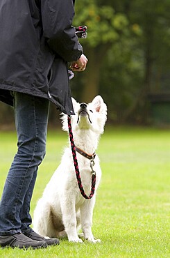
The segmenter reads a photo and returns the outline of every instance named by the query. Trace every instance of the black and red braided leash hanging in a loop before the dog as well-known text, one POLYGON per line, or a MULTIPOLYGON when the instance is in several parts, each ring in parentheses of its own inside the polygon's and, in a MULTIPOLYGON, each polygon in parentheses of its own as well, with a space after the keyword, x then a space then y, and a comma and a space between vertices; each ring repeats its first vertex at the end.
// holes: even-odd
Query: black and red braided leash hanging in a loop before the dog
POLYGON ((71 143, 71 150, 72 150, 72 154, 73 154, 74 167, 75 167, 78 187, 80 189, 81 195, 83 195, 83 197, 85 199, 91 199, 94 195, 95 185, 96 185, 96 172, 94 172, 94 170, 93 170, 94 159, 90 160, 90 162, 91 162, 90 167, 92 169, 92 187, 91 187, 90 195, 87 196, 85 194, 85 191, 83 189, 83 185, 82 185, 81 179, 80 179, 80 172, 79 172, 79 169, 78 169, 78 161, 77 161, 77 158, 76 158, 76 146, 74 144, 73 132, 72 132, 72 129, 71 129, 71 116, 68 116, 68 127, 69 127, 69 139, 70 139, 70 143, 71 143))

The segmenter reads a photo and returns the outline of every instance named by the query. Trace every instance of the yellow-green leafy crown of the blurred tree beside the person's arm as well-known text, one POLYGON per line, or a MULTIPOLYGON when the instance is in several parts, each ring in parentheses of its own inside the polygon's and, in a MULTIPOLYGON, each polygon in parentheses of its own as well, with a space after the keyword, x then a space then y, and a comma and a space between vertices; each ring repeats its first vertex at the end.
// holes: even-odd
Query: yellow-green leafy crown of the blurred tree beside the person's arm
POLYGON ((115 13, 112 6, 98 5, 96 1, 80 1, 76 4, 76 24, 85 24, 88 29, 85 44, 90 47, 112 43, 119 38, 119 32, 128 26, 122 13, 115 13))

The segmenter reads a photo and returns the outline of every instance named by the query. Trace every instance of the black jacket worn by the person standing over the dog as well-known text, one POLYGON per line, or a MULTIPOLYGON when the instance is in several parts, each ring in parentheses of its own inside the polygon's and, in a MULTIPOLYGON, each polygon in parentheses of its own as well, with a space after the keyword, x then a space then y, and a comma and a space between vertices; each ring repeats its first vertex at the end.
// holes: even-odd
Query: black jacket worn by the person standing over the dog
POLYGON ((72 0, 0 1, 0 100, 10 91, 48 98, 74 114, 67 62, 83 53, 75 29, 72 0))

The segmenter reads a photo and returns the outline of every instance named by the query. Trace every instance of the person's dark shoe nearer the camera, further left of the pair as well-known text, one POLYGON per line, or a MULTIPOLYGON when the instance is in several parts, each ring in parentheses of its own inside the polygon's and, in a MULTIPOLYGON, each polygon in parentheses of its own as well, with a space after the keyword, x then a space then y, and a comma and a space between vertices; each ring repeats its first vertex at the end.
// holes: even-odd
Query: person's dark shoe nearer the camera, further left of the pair
POLYGON ((16 233, 11 236, 0 236, 1 248, 46 248, 45 241, 35 241, 24 234, 16 233))

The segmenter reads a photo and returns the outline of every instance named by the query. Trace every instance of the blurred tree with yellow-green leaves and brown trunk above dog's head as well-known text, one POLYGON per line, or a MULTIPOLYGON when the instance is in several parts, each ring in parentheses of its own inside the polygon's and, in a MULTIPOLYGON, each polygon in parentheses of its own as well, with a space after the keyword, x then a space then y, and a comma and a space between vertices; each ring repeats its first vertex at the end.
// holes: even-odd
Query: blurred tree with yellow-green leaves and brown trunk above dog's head
POLYGON ((82 0, 76 3, 75 26, 87 26, 87 39, 82 40, 89 59, 81 91, 83 101, 90 101, 99 93, 101 66, 112 44, 128 33, 128 20, 123 13, 115 13, 112 1, 82 0))

